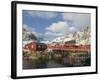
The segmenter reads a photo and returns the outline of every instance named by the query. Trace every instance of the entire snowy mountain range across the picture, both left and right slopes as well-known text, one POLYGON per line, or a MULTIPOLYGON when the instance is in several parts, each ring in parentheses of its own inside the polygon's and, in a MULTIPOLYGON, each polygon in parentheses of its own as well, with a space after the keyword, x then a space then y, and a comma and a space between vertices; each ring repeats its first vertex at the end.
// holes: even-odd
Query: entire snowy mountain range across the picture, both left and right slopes
MULTIPOLYGON (((38 38, 41 43, 51 44, 51 43, 65 43, 67 41, 75 40, 78 45, 89 45, 91 43, 91 29, 90 27, 85 27, 84 29, 77 31, 75 33, 70 33, 65 36, 57 37, 53 40, 45 40, 44 38, 38 38)), ((23 28, 23 46, 30 42, 40 42, 37 37, 23 28)))

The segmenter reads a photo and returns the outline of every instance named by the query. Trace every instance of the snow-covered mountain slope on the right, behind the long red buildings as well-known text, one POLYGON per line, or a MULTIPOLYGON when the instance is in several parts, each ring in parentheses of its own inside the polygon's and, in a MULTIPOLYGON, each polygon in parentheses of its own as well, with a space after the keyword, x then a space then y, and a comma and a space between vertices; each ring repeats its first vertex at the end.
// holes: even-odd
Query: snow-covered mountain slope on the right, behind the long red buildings
POLYGON ((84 28, 82 31, 68 34, 66 36, 57 37, 52 42, 65 43, 67 41, 75 40, 76 44, 89 45, 90 44, 90 27, 84 28))

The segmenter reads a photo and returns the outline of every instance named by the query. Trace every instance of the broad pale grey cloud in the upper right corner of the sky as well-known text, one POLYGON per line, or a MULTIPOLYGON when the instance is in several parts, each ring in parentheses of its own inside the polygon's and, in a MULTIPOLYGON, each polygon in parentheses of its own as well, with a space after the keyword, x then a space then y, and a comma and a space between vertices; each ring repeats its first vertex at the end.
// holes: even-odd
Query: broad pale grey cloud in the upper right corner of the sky
POLYGON ((71 21, 77 29, 91 26, 91 15, 86 13, 62 13, 64 21, 71 21))

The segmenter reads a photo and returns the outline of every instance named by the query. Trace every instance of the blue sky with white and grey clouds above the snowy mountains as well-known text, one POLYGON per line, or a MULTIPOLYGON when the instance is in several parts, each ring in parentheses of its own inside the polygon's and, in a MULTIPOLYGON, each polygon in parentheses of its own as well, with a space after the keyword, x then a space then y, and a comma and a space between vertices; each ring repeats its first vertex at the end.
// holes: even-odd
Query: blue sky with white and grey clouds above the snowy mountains
POLYGON ((23 27, 38 38, 52 40, 90 27, 90 16, 86 13, 23 10, 23 27))

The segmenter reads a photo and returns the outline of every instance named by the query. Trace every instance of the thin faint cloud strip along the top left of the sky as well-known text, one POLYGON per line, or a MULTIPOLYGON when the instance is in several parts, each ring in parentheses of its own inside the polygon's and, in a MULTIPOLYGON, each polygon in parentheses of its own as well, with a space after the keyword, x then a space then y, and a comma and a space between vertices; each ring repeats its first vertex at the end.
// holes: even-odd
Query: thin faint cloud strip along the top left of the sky
POLYGON ((37 16, 37 17, 45 18, 45 19, 51 19, 51 18, 57 17, 56 12, 43 12, 43 11, 27 11, 27 12, 31 16, 37 16))

